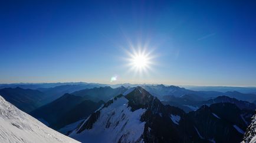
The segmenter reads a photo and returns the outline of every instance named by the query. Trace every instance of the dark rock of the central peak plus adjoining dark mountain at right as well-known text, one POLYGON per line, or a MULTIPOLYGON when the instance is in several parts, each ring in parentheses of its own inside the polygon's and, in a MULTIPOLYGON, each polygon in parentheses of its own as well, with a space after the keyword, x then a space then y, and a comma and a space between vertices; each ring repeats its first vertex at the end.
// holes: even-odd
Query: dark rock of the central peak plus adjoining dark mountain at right
POLYGON ((141 117, 141 121, 146 122, 145 142, 240 142, 243 134, 234 125, 241 131, 247 127, 243 115, 248 111, 231 103, 203 105, 199 110, 186 114, 179 108, 161 104, 143 88, 137 87, 126 98, 132 110, 147 109, 141 117), (175 124, 170 115, 178 115, 179 123, 175 124))

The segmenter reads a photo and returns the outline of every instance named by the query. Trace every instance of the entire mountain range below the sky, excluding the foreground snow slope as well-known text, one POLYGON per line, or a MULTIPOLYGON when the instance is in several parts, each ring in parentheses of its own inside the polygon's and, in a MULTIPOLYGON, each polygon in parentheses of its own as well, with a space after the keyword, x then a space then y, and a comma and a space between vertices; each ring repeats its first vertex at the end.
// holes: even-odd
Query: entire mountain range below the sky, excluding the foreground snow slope
POLYGON ((162 84, 94 86, 2 88, 0 94, 34 120, 81 142, 254 141, 255 94, 162 84))

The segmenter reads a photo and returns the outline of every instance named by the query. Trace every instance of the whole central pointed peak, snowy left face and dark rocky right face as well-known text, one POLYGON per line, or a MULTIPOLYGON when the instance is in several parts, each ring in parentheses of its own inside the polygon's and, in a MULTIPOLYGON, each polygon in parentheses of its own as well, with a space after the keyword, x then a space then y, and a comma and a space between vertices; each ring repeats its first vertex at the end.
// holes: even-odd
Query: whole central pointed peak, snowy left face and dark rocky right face
POLYGON ((179 108, 163 105, 142 87, 135 87, 109 100, 69 136, 82 142, 200 141, 187 120, 179 108))

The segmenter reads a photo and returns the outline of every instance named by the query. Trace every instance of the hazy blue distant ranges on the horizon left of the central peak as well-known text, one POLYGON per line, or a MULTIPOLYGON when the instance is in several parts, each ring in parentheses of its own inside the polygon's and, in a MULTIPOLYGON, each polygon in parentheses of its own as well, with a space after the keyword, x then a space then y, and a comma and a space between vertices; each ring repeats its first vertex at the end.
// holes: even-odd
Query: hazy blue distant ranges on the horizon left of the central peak
POLYGON ((79 94, 79 96, 85 96, 85 98, 87 97, 88 99, 97 102, 100 100, 108 100, 109 98, 117 94, 123 93, 127 89, 126 88, 113 89, 111 87, 96 88, 91 84, 89 85, 76 84, 76 85, 63 85, 63 86, 57 86, 57 87, 51 87, 51 88, 38 88, 38 90, 24 89, 20 87, 2 88, 0 89, 0 94, 7 101, 14 104, 22 111, 26 113, 30 113, 36 108, 56 100, 57 98, 63 96, 63 94, 65 93, 73 93, 74 91, 78 91, 78 90, 81 90, 81 91, 75 94, 79 94), (81 90, 84 88, 87 88, 86 91, 81 90), (93 88, 93 89, 89 90, 88 88, 93 88), (98 93, 97 93, 97 90, 99 90, 98 93), (100 91, 103 94, 101 94, 100 91), (111 91, 113 91, 113 93, 111 93, 111 91), (102 99, 96 98, 100 96, 102 96, 102 99))

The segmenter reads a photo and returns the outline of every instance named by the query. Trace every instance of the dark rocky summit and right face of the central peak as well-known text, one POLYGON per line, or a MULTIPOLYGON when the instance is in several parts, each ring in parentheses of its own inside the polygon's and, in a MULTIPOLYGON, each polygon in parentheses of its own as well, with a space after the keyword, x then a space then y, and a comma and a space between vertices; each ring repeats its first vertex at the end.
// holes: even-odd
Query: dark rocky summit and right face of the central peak
POLYGON ((140 119, 146 122, 142 135, 145 142, 200 142, 203 140, 189 124, 189 118, 184 111, 163 105, 143 88, 137 87, 125 97, 129 100, 132 111, 138 108, 147 109, 140 119), (179 118, 179 121, 173 122, 172 115, 179 118))

